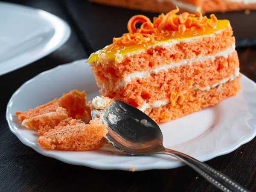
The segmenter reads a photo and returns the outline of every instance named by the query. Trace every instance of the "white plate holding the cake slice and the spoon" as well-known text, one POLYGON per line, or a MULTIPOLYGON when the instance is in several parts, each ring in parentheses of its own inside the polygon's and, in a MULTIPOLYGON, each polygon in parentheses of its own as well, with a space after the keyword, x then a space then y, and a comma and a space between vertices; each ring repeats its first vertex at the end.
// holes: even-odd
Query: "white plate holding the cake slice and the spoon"
MULTIPOLYGON (((36 143, 38 137, 35 132, 17 122, 15 111, 35 108, 73 89, 85 90, 88 99, 99 95, 94 76, 85 61, 75 61, 41 73, 13 94, 7 106, 6 119, 19 140, 45 156, 96 169, 128 170, 134 166, 141 171, 181 166, 180 161, 170 157, 132 157, 111 147, 84 152, 50 151, 36 143)), ((164 146, 206 161, 234 151, 252 140, 256 135, 256 84, 242 76, 241 86, 237 96, 225 99, 214 107, 161 124, 164 146)))

